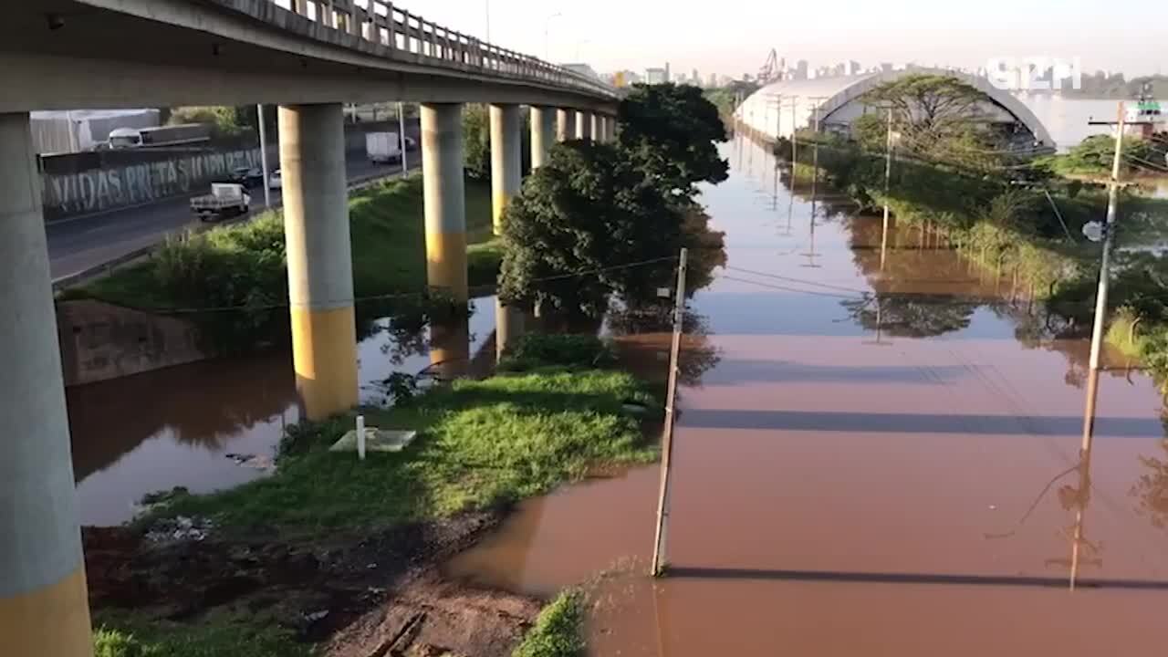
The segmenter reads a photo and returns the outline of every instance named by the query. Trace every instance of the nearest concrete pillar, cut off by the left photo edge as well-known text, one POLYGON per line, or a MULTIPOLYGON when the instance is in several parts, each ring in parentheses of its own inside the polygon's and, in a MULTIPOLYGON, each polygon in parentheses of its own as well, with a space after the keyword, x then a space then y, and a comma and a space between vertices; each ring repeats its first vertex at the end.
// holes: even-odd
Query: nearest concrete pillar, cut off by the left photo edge
POLYGON ((0 113, 0 653, 93 653, 41 180, 0 113))

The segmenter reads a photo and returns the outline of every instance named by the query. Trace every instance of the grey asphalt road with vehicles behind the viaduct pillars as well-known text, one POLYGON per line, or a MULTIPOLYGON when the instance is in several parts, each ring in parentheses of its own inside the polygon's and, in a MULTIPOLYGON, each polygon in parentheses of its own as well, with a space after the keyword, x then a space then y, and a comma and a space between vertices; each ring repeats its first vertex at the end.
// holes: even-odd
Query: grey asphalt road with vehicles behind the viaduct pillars
MULTIPOLYGON (((420 164, 420 160, 416 151, 410 155, 412 155, 410 158, 412 170, 420 164)), ((346 168, 349 181, 366 179, 380 172, 387 175, 401 172, 401 165, 374 165, 363 153, 350 155, 346 161, 346 168)), ((183 196, 49 223, 46 234, 49 240, 49 268, 53 279, 100 267, 138 249, 157 244, 169 234, 197 226, 199 220, 190 214, 189 200, 190 196, 183 196)), ((272 205, 279 205, 280 200, 279 189, 272 189, 272 205)), ((263 206, 264 191, 257 187, 251 191, 252 214, 263 212, 263 206)))

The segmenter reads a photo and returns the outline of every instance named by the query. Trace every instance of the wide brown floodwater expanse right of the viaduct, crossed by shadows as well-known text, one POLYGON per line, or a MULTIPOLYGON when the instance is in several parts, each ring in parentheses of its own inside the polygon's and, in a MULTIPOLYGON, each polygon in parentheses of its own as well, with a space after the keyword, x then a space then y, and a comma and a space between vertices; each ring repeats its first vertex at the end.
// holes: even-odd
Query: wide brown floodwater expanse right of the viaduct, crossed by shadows
POLYGON ((878 217, 816 199, 813 223, 770 154, 726 154, 703 193, 729 260, 690 304, 669 576, 646 575, 655 466, 522 503, 449 572, 586 585, 598 656, 1163 653, 1154 382, 1107 354, 1082 458, 1087 345, 1029 290, 916 230, 882 268, 878 217))

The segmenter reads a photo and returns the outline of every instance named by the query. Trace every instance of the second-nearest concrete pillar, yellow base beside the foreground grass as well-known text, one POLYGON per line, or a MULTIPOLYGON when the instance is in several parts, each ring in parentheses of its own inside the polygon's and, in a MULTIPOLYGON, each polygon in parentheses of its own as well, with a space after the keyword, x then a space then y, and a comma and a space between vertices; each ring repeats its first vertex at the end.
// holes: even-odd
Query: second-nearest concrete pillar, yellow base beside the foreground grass
POLYGON ((292 359, 308 420, 357 403, 343 122, 340 103, 279 109, 292 359))

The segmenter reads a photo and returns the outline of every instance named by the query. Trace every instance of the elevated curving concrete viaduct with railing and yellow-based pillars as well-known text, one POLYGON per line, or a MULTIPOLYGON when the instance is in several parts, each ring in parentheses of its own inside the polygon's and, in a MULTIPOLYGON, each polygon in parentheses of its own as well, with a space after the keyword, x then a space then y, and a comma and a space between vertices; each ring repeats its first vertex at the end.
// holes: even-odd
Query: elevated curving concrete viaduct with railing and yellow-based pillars
MULTIPOLYGON (((542 166, 555 139, 610 139, 619 97, 597 79, 382 0, 12 5, 0 22, 0 637, 5 655, 88 657, 85 574, 28 112, 280 105, 297 387, 306 417, 321 419, 357 401, 342 103, 422 103, 426 275, 431 286, 466 300, 461 104, 492 105, 498 229, 520 187, 519 105, 531 105, 531 161, 542 166)), ((515 324, 508 309, 500 313, 506 341, 515 324)), ((465 327, 451 334, 461 336, 465 352, 465 327)))

